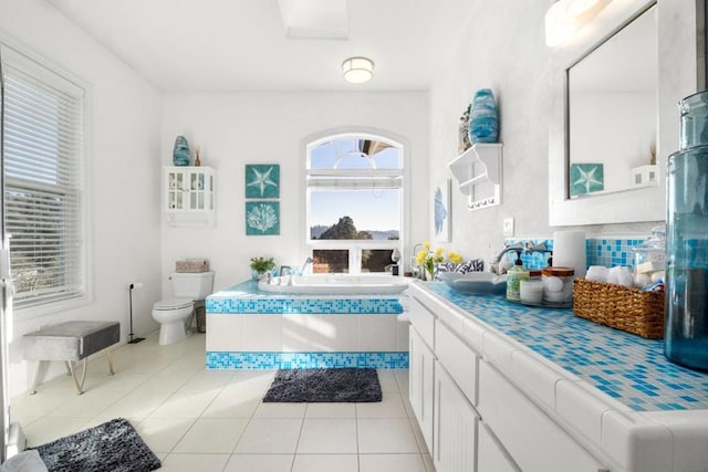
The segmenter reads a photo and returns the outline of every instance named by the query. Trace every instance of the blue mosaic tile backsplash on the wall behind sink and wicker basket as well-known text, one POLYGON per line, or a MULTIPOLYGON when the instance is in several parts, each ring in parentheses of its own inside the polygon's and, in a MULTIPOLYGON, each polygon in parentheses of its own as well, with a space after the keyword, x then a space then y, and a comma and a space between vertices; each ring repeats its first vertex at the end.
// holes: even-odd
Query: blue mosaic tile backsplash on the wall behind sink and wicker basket
MULTIPOLYGON (((632 248, 639 245, 644 242, 644 239, 613 239, 613 238, 590 238, 585 240, 585 254, 587 258, 587 266, 591 265, 604 265, 606 268, 614 268, 615 265, 634 265, 634 253, 632 248)), ((552 239, 508 239, 507 244, 516 244, 518 242, 530 242, 533 245, 545 243, 545 245, 553 250, 552 239)), ((548 265, 548 258, 550 254, 534 252, 532 254, 521 254, 521 261, 527 269, 543 269, 548 265)), ((510 261, 517 259, 517 254, 509 252, 510 261)))

